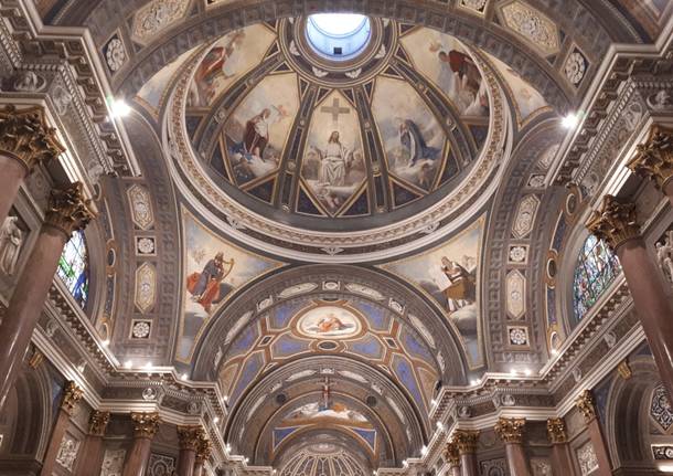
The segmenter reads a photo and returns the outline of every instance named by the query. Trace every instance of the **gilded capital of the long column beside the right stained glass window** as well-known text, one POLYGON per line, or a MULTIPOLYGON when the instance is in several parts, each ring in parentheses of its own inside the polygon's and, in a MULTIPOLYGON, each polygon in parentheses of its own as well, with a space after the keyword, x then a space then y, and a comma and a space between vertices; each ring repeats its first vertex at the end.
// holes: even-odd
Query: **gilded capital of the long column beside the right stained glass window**
POLYGON ((640 236, 635 204, 622 203, 612 195, 605 195, 600 208, 589 218, 587 229, 616 251, 629 240, 640 236))

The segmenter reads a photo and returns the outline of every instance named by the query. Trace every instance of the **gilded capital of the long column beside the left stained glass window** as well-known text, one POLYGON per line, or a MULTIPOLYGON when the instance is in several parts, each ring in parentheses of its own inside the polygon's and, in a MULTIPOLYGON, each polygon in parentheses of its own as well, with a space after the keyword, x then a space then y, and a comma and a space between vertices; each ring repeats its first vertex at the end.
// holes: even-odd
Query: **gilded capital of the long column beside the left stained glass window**
POLYGON ((54 189, 49 200, 45 223, 61 230, 68 237, 84 229, 94 218, 90 200, 84 197, 82 182, 71 183, 64 189, 54 189))

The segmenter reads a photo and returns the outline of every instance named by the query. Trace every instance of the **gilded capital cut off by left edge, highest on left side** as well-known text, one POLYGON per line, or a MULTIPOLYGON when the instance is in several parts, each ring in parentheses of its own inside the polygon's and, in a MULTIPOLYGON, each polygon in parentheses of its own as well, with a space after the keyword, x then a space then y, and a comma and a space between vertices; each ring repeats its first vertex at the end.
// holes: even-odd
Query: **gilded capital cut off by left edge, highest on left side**
POLYGON ((56 130, 46 125, 43 107, 17 109, 10 105, 0 109, 0 154, 19 160, 26 173, 64 151, 56 130))

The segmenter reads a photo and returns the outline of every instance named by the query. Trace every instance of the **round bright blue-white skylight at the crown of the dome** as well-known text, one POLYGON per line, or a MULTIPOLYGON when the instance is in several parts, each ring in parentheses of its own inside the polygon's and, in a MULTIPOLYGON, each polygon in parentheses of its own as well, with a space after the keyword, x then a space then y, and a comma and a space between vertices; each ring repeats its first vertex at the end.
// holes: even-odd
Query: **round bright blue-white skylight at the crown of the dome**
POLYGON ((306 34, 321 56, 345 61, 367 46, 372 33, 368 17, 352 13, 320 13, 308 18, 306 34))

